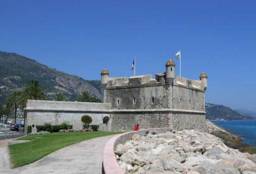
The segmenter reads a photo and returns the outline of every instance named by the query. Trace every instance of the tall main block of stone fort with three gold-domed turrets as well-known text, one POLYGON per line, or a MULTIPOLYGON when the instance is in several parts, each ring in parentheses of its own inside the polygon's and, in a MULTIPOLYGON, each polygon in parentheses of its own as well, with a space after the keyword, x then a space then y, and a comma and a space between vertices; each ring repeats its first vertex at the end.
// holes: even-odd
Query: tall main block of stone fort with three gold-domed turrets
POLYGON ((166 72, 155 78, 113 78, 104 69, 101 84, 104 102, 112 107, 112 131, 130 131, 136 124, 141 128, 204 129, 207 75, 202 74, 200 80, 176 76, 171 60, 166 63, 166 72))

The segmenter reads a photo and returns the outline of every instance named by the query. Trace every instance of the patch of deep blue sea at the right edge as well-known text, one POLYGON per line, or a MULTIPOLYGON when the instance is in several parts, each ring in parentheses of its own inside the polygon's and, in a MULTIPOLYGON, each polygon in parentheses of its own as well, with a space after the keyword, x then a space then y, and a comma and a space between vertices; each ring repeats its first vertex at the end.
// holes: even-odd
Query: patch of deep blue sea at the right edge
POLYGON ((211 121, 239 136, 242 143, 256 146, 256 121, 211 121))

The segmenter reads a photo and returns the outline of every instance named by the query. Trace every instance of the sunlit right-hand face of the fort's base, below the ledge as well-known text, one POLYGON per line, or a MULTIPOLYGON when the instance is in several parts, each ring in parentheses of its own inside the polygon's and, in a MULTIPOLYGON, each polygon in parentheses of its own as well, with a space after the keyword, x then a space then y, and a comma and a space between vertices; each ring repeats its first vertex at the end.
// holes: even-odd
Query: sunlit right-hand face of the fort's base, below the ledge
POLYGON ((174 130, 204 130, 205 115, 198 113, 173 112, 170 121, 174 130))

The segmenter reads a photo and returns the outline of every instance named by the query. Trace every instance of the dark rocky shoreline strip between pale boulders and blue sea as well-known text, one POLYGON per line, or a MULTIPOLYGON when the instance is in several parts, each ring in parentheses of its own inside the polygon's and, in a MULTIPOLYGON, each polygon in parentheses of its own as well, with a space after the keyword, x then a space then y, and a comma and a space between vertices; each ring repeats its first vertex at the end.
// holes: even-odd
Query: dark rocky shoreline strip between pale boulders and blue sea
MULTIPOLYGON (((216 121, 216 120, 215 120, 216 121)), ((230 120, 229 120, 230 121, 230 120)), ((241 120, 239 120, 241 121, 241 120)), ((246 120, 248 121, 248 120, 246 120)), ((225 129, 219 125, 210 122, 210 120, 206 120, 206 132, 213 134, 223 140, 223 142, 230 148, 238 149, 241 152, 248 152, 250 154, 256 153, 256 147, 248 144, 243 144, 242 139, 231 133, 228 129, 225 129)))

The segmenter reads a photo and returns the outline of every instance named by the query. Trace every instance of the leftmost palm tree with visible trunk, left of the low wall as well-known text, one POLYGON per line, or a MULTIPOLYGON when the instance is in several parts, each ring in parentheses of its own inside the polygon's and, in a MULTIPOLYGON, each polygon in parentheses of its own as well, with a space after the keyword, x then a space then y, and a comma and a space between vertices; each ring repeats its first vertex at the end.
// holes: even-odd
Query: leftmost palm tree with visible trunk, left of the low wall
POLYGON ((17 117, 17 108, 21 105, 21 91, 13 91, 10 96, 6 98, 6 107, 11 109, 12 107, 15 108, 15 122, 17 117))

